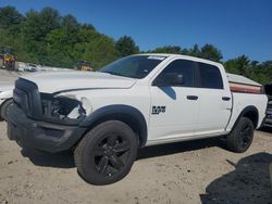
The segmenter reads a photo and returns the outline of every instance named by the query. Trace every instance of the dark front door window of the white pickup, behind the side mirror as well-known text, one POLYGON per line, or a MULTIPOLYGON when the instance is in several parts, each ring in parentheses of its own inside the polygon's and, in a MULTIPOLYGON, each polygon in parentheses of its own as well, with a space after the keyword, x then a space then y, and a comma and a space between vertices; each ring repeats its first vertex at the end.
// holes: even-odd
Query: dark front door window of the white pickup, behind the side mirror
POLYGON ((166 75, 182 75, 183 85, 181 87, 194 87, 195 62, 187 60, 175 60, 171 62, 157 77, 163 79, 166 75))

